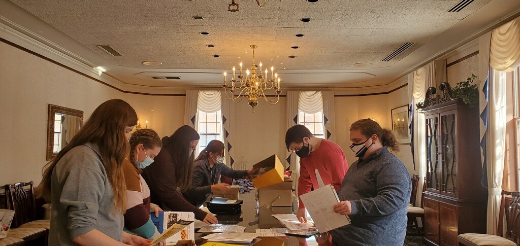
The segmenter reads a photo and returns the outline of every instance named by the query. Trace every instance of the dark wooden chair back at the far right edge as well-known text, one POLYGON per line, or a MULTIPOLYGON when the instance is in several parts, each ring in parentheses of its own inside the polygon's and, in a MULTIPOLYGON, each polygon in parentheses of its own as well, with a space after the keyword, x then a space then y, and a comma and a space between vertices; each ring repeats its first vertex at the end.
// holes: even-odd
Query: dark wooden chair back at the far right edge
POLYGON ((506 192, 502 190, 502 201, 498 218, 498 235, 520 245, 520 192, 506 192), (506 196, 511 196, 511 202, 506 204, 506 196), (502 225, 505 217, 506 231, 503 235, 502 225))

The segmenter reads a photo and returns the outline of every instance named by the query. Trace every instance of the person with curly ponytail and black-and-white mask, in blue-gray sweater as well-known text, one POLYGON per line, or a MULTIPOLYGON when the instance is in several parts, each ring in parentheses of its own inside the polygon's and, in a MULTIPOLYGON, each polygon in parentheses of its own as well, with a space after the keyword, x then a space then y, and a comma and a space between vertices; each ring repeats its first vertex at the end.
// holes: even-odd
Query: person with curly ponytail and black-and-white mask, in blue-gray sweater
POLYGON ((361 119, 350 126, 350 149, 359 159, 348 169, 334 212, 351 224, 330 231, 333 245, 403 245, 410 174, 392 153, 399 151, 394 133, 378 122, 361 119))

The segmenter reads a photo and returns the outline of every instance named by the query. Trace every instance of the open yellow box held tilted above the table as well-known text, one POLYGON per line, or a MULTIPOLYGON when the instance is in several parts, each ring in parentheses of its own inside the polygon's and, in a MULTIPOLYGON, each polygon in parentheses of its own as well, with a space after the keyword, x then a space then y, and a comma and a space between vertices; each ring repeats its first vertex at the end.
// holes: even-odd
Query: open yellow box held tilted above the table
POLYGON ((283 165, 276 155, 256 163, 253 168, 270 169, 251 180, 257 189, 283 182, 283 165))

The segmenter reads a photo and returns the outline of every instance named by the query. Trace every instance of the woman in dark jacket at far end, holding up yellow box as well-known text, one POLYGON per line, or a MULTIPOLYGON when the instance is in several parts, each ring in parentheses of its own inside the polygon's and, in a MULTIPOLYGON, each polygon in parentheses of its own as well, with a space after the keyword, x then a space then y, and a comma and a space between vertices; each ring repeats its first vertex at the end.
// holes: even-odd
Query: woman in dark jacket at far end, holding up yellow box
POLYGON ((195 160, 191 185, 183 191, 183 195, 191 204, 200 207, 212 192, 229 191, 229 184, 218 183, 220 174, 240 179, 256 172, 258 172, 257 169, 239 171, 226 166, 224 164, 224 143, 212 140, 195 160))

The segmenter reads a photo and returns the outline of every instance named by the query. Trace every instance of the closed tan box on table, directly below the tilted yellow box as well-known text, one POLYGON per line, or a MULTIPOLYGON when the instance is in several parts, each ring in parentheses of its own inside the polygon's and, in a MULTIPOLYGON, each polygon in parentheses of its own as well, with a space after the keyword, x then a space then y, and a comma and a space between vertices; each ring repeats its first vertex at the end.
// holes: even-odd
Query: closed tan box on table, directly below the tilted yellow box
POLYGON ((293 182, 285 181, 258 190, 258 207, 292 207, 293 182))

